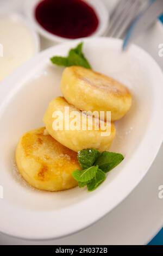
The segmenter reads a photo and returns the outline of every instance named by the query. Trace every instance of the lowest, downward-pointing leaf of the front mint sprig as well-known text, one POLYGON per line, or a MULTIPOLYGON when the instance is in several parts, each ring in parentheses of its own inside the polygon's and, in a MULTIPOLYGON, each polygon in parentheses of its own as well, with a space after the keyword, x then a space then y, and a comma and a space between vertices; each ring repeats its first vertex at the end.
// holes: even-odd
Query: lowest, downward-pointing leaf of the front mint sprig
POLYGON ((93 191, 96 190, 96 188, 102 184, 102 182, 106 179, 105 173, 98 169, 97 173, 95 175, 95 178, 93 178, 88 184, 87 184, 87 190, 93 191))

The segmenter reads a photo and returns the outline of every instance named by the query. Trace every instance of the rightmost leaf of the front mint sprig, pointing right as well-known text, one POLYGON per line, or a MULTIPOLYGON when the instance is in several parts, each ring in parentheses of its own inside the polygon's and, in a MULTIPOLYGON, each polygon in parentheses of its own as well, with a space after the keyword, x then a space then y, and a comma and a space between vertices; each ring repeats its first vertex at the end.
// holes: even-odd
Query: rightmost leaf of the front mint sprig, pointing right
POLYGON ((109 172, 109 170, 116 167, 124 159, 122 154, 104 151, 95 162, 99 169, 103 172, 109 172))

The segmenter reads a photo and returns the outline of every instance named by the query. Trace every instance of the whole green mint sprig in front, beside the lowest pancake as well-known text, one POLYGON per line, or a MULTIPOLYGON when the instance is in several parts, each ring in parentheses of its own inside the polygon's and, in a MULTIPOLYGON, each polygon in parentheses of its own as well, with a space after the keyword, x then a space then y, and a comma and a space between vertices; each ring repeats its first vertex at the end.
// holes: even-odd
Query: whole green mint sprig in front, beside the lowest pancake
POLYGON ((124 159, 122 154, 96 149, 83 149, 78 152, 78 161, 82 170, 75 170, 72 175, 79 187, 87 186, 88 191, 95 190, 106 179, 106 172, 116 167, 124 159))

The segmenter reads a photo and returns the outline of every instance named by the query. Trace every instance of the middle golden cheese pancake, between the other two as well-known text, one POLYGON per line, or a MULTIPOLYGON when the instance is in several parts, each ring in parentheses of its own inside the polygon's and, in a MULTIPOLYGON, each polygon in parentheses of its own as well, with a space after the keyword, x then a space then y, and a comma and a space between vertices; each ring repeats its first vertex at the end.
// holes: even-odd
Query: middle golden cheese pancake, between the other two
POLYGON ((99 123, 99 119, 83 114, 70 105, 64 97, 57 97, 49 103, 43 122, 53 138, 76 152, 87 148, 95 148, 99 151, 108 150, 115 137, 114 124, 106 125, 104 121, 99 123), (63 125, 57 121, 59 114, 62 115, 63 125), (90 120, 92 120, 92 125, 90 120), (79 126, 78 121, 80 121, 79 126), (102 125, 106 126, 102 127, 102 125))

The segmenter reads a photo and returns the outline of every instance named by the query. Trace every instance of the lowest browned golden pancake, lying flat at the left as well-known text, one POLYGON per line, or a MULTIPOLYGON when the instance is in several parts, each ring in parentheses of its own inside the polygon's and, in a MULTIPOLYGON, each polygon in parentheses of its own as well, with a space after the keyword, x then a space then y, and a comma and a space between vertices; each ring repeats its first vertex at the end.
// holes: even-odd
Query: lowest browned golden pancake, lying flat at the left
POLYGON ((16 148, 16 164, 33 187, 61 191, 77 186, 72 172, 80 169, 77 153, 44 135, 45 127, 24 134, 16 148))

